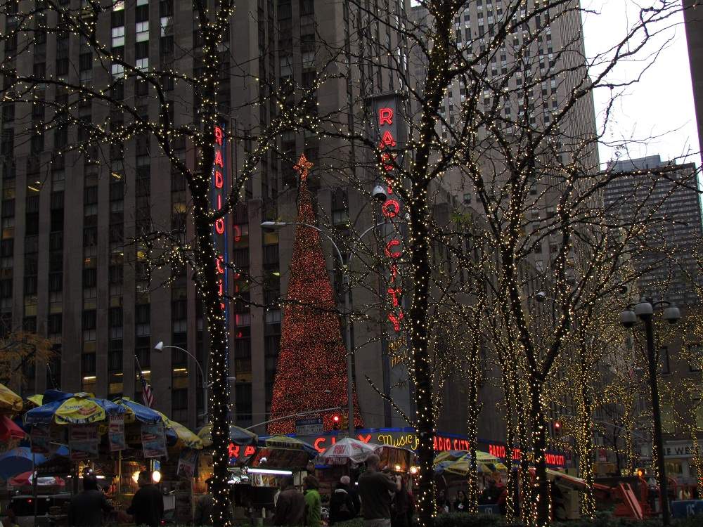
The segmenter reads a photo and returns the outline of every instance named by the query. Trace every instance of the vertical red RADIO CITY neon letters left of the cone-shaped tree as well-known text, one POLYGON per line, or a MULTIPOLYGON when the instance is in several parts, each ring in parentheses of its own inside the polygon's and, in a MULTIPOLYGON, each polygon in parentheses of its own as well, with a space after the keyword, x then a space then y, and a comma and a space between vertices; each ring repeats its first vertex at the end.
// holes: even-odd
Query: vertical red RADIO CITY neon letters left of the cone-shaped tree
MULTIPOLYGON (((227 200, 226 146, 227 138, 221 126, 215 126, 215 160, 212 164, 212 208, 219 211, 227 200)), ((217 252, 218 289, 220 308, 226 311, 227 292, 227 229, 224 218, 218 218, 213 227, 215 251, 217 252)))

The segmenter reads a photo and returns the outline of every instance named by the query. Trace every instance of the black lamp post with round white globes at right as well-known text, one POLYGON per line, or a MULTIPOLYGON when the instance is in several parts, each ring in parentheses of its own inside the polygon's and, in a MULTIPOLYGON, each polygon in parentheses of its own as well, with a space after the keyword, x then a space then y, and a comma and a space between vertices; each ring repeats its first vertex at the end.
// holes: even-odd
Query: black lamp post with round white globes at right
POLYGON ((662 504, 662 523, 669 525, 669 495, 667 493, 666 465, 664 464, 664 438, 662 436, 662 410, 659 408, 659 386, 657 385, 657 356, 654 352, 654 308, 665 306, 664 320, 676 324, 681 318, 681 312, 676 306, 662 300, 652 302, 651 299, 640 299, 638 304, 628 306, 620 313, 620 323, 624 327, 633 327, 640 318, 645 323, 647 337, 647 369, 649 371, 650 391, 652 393, 652 417, 654 420, 654 451, 657 453, 657 469, 659 471, 659 502, 662 504))

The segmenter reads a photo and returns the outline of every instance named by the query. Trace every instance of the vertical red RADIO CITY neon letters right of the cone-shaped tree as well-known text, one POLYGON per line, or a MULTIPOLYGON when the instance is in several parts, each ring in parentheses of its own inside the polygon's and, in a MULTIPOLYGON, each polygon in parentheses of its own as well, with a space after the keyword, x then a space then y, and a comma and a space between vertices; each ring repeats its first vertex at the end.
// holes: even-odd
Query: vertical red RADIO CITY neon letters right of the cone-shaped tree
MULTIPOLYGON (((394 104, 381 105, 380 108, 378 108, 377 116, 378 133, 380 136, 378 150, 381 152, 381 169, 386 183, 387 193, 387 199, 381 206, 381 213, 388 219, 398 216, 401 212, 400 202, 393 193, 393 178, 391 177, 391 172, 395 169, 395 156, 391 149, 395 148, 397 145, 396 137, 394 136, 394 134, 397 134, 397 125, 394 123, 396 119, 394 107, 394 104)), ((385 246, 385 255, 391 260, 387 289, 387 299, 391 309, 388 311, 387 316, 389 322, 393 325, 393 330, 395 332, 400 332, 401 321, 404 317, 401 302, 403 289, 401 288, 398 276, 397 264, 397 261, 403 256, 401 241, 396 238, 389 240, 385 246)))

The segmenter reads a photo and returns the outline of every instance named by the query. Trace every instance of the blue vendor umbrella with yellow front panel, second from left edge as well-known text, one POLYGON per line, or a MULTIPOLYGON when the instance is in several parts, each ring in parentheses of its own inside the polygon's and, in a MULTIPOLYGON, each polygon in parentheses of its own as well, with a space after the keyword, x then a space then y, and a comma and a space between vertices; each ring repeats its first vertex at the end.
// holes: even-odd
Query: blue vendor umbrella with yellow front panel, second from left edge
POLYGON ((110 414, 125 412, 122 406, 107 399, 93 397, 91 393, 79 392, 71 395, 59 392, 60 396, 50 400, 49 391, 44 393, 43 405, 25 413, 25 424, 89 424, 104 421, 110 414), (47 400, 49 402, 46 402, 47 400))

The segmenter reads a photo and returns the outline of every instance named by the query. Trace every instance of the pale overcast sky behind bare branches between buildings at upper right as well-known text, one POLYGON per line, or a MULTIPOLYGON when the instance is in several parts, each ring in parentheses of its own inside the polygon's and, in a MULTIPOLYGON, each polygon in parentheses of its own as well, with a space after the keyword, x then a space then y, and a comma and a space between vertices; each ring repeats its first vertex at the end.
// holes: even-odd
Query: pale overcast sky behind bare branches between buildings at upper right
MULTIPOLYGON (((640 5, 651 5, 652 0, 640 0, 640 5)), ((598 15, 586 13, 583 16, 583 31, 586 41, 586 54, 605 51, 607 46, 619 41, 632 21, 637 19, 638 8, 634 0, 581 0, 585 9, 594 9, 598 15)), ((631 143, 623 157, 662 155, 669 160, 681 155, 689 155, 688 160, 700 163, 693 94, 686 47, 683 14, 677 13, 660 25, 664 32, 652 41, 647 51, 666 47, 656 62, 643 74, 641 82, 626 89, 624 96, 614 107, 613 118, 608 126, 605 139, 610 138, 651 138, 646 143, 631 143), (668 41, 668 42, 667 42, 668 41)), ((613 79, 631 79, 642 71, 643 63, 628 63, 619 67, 613 79)), ((595 93, 595 111, 602 123, 602 110, 607 105, 609 94, 595 93)), ((602 146, 600 161, 607 162, 614 152, 602 146)))

